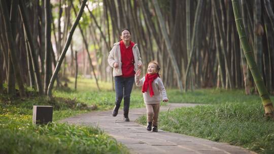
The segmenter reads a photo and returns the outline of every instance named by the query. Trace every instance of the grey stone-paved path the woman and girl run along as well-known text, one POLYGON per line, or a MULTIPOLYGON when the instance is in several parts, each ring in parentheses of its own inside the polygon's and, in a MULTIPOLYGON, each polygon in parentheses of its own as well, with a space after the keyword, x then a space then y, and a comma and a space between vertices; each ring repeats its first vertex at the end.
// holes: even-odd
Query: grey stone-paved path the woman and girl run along
MULTIPOLYGON (((197 104, 168 103, 167 106, 161 106, 160 109, 167 110, 168 108, 195 105, 197 104)), ((149 132, 145 126, 134 122, 145 113, 145 108, 130 109, 130 122, 123 122, 121 109, 117 117, 112 117, 112 111, 93 111, 64 119, 61 122, 99 126, 117 141, 126 145, 131 153, 255 153, 227 143, 213 142, 183 134, 162 130, 156 133, 149 132)))

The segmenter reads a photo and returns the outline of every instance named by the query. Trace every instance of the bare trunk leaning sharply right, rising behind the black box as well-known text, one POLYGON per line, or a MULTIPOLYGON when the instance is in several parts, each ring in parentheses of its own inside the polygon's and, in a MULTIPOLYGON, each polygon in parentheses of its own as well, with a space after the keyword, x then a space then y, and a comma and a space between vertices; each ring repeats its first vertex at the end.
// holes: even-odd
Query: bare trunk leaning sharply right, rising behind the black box
POLYGON ((51 76, 50 83, 49 83, 49 87, 48 87, 48 92, 47 92, 47 95, 49 96, 49 98, 52 98, 52 88, 53 88, 54 81, 55 81, 56 76, 57 76, 57 74, 58 74, 58 72, 59 72, 59 70, 60 70, 62 61, 63 61, 63 59, 64 59, 64 57, 65 57, 65 54, 66 54, 66 51, 67 51, 68 47, 69 47, 70 44, 71 44, 72 36, 73 36, 74 31, 75 31, 75 28, 76 28, 77 24, 79 23, 79 20, 80 20, 82 14, 83 14, 83 12, 84 12, 84 8, 85 8, 85 5, 86 5, 86 2, 87 2, 87 0, 83 0, 83 1, 82 1, 81 8, 80 8, 80 10, 79 10, 79 12, 78 12, 78 15, 77 15, 77 17, 76 17, 76 20, 75 20, 75 22, 74 22, 72 28, 71 28, 71 30, 70 30, 70 34, 69 34, 68 37, 67 37, 67 41, 66 41, 66 43, 65 43, 64 49, 62 50, 62 53, 61 53, 61 55, 60 55, 60 57, 59 57, 59 60, 58 60, 58 62, 57 62, 57 65, 56 65, 56 67, 55 67, 55 69, 54 69, 54 72, 53 72, 53 74, 52 74, 52 76, 51 76))

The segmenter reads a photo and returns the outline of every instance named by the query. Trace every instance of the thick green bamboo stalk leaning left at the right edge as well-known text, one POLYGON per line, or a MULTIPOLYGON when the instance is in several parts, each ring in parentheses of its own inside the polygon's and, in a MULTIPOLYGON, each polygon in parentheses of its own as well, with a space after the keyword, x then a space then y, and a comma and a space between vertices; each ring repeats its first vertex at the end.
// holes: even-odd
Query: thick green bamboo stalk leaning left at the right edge
POLYGON ((262 99, 265 115, 271 116, 272 118, 274 118, 274 108, 273 108, 272 102, 268 95, 267 89, 263 83, 262 76, 260 74, 258 66, 255 62, 253 52, 252 52, 251 47, 248 43, 245 29, 242 28, 242 27, 244 27, 244 25, 243 25, 243 19, 241 16, 241 10, 239 7, 239 2, 237 0, 232 0, 232 6, 233 6, 233 12, 234 12, 234 17, 235 17, 235 22, 236 22, 236 26, 237 26, 239 39, 241 40, 241 45, 244 49, 248 65, 250 67, 250 70, 251 70, 253 79, 255 81, 256 87, 258 89, 258 92, 260 94, 260 97, 262 99))

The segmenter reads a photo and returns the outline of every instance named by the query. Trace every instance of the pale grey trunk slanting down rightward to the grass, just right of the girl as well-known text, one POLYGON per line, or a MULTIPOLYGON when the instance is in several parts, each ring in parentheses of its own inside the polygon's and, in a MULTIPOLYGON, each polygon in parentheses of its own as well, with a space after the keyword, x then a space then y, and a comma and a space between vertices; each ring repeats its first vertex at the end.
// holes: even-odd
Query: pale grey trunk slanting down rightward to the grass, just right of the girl
POLYGON ((170 59, 172 60, 172 66, 173 66, 173 68, 175 70, 175 73, 176 73, 178 88, 180 89, 180 91, 183 91, 183 85, 182 85, 182 81, 181 81, 181 72, 179 70, 176 58, 174 56, 174 51, 172 49, 171 43, 170 43, 169 38, 168 38, 168 34, 167 34, 167 31, 166 31, 166 27, 165 27, 165 23, 164 23, 164 20, 163 20, 163 17, 162 17, 162 13, 160 12, 159 4, 158 4, 157 0, 153 0, 153 4, 154 4, 154 8, 155 8, 155 11, 156 11, 156 14, 157 14, 157 19, 160 23, 160 30, 161 30, 161 32, 163 34, 163 37, 164 37, 164 41, 165 41, 165 45, 167 47, 168 55, 169 55, 170 59))

